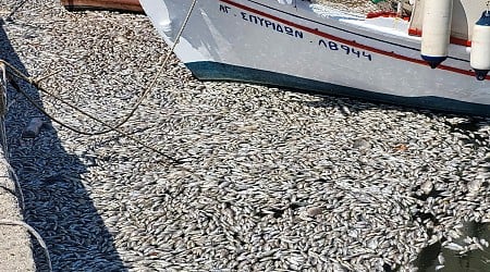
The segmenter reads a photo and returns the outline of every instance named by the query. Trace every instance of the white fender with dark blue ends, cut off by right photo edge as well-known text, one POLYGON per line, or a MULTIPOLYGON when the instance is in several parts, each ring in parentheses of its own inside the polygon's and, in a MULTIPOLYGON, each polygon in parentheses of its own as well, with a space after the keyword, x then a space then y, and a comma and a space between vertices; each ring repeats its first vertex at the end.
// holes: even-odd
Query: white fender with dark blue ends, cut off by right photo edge
POLYGON ((483 81, 490 71, 490 12, 485 11, 473 27, 469 63, 478 81, 483 81))

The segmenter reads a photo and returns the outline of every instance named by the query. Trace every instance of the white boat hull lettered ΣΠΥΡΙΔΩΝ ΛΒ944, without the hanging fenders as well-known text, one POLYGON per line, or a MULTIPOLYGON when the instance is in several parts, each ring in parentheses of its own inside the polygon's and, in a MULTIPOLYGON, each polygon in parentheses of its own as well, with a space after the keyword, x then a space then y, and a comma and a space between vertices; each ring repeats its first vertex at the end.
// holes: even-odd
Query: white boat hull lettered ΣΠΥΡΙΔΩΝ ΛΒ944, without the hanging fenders
MULTIPOLYGON (((192 0, 140 0, 172 45, 192 0)), ((198 0, 175 48, 200 79, 244 81, 490 115, 490 77, 475 79, 466 47, 438 69, 420 59, 408 22, 364 20, 275 0, 198 0)), ((315 7, 314 7, 315 8, 315 7)))

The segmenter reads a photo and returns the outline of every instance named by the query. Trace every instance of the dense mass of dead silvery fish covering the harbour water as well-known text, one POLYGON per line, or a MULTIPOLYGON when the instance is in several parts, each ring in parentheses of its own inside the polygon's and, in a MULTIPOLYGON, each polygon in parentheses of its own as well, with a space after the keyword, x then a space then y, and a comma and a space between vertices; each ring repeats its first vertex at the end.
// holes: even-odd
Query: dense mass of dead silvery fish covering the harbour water
MULTIPOLYGON (((33 78, 57 72, 41 86, 115 124, 169 49, 144 15, 58 2, 28 1, 3 21, 0 57, 33 78)), ((21 87, 70 125, 105 128, 21 87)), ((489 119, 199 82, 172 59, 122 129, 173 164, 115 132, 87 137, 46 116, 23 138, 42 114, 13 89, 9 104, 25 221, 56 271, 413 271, 434 243, 489 250, 461 231, 490 222, 489 119)))

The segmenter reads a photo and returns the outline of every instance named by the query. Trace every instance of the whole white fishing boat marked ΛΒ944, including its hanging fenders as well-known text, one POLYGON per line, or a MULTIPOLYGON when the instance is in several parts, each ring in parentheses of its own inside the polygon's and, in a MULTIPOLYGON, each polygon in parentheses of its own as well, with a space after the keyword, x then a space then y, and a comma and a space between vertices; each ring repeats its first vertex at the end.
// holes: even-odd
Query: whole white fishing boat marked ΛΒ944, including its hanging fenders
POLYGON ((140 0, 199 79, 490 115, 486 0, 401 1, 366 14, 324 2, 140 0))

